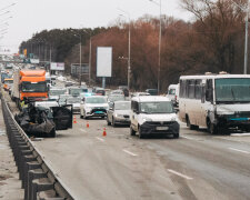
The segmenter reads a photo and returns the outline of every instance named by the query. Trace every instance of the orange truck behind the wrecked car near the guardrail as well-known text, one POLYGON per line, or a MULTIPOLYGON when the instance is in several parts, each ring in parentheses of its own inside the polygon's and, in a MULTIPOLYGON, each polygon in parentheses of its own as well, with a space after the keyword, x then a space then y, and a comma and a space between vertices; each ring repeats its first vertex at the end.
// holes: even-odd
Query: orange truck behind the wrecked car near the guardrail
POLYGON ((46 70, 17 70, 13 73, 11 98, 20 107, 24 99, 41 101, 48 99, 46 70))

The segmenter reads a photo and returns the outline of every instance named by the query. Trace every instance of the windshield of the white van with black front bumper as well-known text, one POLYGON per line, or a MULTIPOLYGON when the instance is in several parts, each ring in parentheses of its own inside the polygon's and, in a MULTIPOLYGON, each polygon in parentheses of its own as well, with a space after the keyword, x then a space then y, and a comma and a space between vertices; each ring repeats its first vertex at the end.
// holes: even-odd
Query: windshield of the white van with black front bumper
POLYGON ((169 101, 160 102, 141 102, 140 103, 141 113, 173 113, 172 103, 169 101))

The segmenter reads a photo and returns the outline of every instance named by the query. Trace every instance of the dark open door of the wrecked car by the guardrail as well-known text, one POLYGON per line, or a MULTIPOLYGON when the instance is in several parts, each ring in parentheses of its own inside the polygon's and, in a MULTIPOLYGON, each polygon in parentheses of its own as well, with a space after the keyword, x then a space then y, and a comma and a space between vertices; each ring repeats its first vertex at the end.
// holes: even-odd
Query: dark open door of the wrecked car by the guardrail
POLYGON ((67 130, 72 128, 72 104, 66 104, 62 107, 51 107, 53 113, 53 122, 56 130, 67 130))

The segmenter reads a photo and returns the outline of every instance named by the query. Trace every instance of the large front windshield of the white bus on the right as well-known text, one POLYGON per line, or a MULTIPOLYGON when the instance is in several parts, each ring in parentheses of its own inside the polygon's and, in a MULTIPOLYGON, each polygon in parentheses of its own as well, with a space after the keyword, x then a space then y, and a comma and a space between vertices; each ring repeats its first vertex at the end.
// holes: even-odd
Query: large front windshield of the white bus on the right
POLYGON ((216 79, 216 101, 217 103, 250 102, 250 79, 216 79))

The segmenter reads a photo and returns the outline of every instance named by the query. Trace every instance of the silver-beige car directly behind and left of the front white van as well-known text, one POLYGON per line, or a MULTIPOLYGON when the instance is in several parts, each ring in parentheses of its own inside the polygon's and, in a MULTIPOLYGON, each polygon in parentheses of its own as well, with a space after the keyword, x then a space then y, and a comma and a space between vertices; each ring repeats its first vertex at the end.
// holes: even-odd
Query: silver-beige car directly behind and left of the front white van
POLYGON ((107 112, 107 123, 116 127, 119 124, 130 124, 131 101, 116 101, 107 112))

